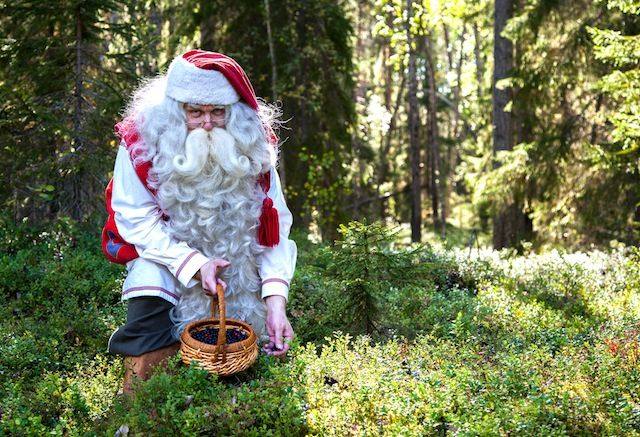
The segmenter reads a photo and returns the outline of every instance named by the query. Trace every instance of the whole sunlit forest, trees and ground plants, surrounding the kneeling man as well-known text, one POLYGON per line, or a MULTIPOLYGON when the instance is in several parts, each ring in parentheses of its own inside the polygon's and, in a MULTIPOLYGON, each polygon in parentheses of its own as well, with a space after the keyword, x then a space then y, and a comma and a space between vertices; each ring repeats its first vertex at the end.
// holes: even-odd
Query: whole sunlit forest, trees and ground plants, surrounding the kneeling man
POLYGON ((0 96, 0 431, 640 433, 640 1, 0 1, 0 96), (299 343, 120 399, 113 126, 191 48, 287 120, 299 343))

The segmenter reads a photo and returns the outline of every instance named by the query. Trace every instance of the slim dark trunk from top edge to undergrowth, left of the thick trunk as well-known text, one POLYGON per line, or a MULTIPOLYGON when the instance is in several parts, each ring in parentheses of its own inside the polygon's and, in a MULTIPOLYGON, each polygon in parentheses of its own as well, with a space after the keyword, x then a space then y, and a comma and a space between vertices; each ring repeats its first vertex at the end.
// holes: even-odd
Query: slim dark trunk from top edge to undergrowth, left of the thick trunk
POLYGON ((411 35, 413 0, 407 0, 407 45, 409 49, 409 161, 411 165, 411 241, 422 240, 422 201, 420 189, 420 139, 418 134, 418 81, 416 77, 416 53, 411 35))

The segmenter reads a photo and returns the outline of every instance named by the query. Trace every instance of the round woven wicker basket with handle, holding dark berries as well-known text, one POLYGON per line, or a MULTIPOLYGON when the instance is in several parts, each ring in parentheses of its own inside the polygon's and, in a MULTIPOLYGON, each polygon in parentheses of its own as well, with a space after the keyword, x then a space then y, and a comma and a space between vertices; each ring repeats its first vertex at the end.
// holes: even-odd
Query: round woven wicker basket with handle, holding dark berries
POLYGON ((224 290, 220 284, 216 287, 217 299, 211 302, 211 318, 189 323, 180 336, 182 361, 190 364, 196 361, 209 373, 220 376, 232 375, 251 366, 258 357, 258 338, 251 326, 240 320, 225 317, 224 290), (218 305, 216 305, 216 300, 218 305), (215 318, 215 308, 219 308, 220 318, 215 318), (237 343, 226 344, 227 328, 244 331, 248 336, 237 343), (207 344, 192 337, 193 332, 205 328, 218 328, 217 344, 207 344))

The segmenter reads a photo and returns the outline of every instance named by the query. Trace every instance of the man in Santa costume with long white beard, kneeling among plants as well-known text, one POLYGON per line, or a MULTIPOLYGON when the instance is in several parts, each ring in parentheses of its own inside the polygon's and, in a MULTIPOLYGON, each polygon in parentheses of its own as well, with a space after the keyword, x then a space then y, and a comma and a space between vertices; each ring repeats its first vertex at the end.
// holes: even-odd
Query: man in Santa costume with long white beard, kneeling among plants
POLYGON ((127 322, 109 339, 125 356, 125 391, 210 314, 216 284, 228 317, 250 323, 266 353, 286 353, 296 245, 275 169, 279 115, 233 59, 191 50, 145 82, 116 125, 102 248, 127 267, 127 322))

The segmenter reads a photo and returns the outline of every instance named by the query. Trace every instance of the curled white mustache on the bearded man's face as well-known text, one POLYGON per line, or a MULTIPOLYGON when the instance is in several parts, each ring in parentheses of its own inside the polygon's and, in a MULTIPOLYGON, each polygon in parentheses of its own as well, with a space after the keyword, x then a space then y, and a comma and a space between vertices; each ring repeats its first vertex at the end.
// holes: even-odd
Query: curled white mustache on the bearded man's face
POLYGON ((194 129, 187 136, 184 149, 184 154, 173 158, 175 171, 181 176, 198 176, 208 159, 234 178, 247 176, 251 171, 249 158, 238 151, 235 138, 222 128, 194 129))

